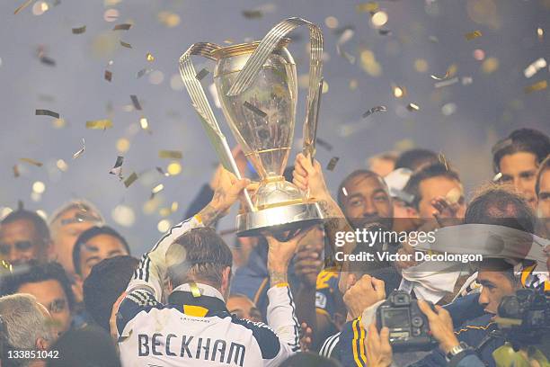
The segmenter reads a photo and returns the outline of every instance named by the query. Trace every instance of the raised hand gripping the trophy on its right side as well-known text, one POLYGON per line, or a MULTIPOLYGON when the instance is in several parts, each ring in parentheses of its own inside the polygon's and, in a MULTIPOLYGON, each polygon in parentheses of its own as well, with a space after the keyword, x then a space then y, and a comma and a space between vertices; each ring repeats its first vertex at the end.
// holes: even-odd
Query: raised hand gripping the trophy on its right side
POLYGON ((299 153, 294 163, 294 177, 292 182, 302 191, 309 190, 309 195, 312 198, 328 200, 330 192, 324 183, 323 170, 318 161, 311 163, 311 158, 299 153))

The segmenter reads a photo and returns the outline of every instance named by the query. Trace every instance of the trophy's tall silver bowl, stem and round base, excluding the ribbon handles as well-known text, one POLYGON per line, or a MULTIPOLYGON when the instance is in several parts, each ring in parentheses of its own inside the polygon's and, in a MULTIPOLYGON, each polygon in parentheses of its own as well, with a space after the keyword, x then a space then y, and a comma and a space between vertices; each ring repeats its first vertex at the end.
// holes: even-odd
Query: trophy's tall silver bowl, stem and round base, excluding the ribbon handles
POLYGON ((260 42, 212 52, 217 58, 214 82, 222 111, 260 178, 260 187, 253 196, 256 210, 237 216, 240 237, 256 236, 266 229, 291 230, 323 218, 315 201, 308 200, 283 177, 294 138, 297 106, 296 64, 286 48, 288 41, 279 41, 252 85, 235 96, 227 93, 260 42))

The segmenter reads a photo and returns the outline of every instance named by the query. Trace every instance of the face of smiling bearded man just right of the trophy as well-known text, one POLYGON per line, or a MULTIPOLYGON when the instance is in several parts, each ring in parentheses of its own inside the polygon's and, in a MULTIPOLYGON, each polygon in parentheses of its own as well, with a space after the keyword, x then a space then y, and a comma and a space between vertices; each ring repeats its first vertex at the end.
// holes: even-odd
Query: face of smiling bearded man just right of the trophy
POLYGON ((391 228, 392 201, 386 192, 386 184, 376 176, 359 175, 346 185, 343 196, 343 212, 354 228, 364 228, 369 223, 380 223, 391 228))

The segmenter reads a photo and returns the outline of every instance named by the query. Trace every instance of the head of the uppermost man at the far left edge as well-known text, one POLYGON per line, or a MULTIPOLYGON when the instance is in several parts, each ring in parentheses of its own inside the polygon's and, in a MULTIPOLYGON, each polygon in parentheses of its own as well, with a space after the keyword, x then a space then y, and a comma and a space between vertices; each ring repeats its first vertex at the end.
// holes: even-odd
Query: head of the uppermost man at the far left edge
POLYGON ((51 249, 49 228, 31 210, 15 210, 0 222, 0 258, 12 265, 44 263, 51 249))

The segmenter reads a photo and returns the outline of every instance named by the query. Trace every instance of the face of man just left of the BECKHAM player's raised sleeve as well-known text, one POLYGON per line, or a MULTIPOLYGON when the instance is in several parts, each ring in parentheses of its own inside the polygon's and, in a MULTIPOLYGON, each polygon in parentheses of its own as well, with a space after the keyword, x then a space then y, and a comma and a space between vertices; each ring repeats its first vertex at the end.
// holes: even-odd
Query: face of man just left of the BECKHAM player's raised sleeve
POLYGON ((90 238, 80 248, 82 280, 84 281, 90 275, 93 265, 101 262, 103 259, 109 259, 118 255, 129 255, 126 247, 122 245, 118 238, 109 235, 98 235, 90 238))

